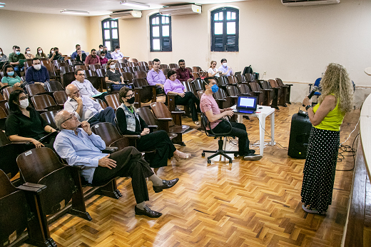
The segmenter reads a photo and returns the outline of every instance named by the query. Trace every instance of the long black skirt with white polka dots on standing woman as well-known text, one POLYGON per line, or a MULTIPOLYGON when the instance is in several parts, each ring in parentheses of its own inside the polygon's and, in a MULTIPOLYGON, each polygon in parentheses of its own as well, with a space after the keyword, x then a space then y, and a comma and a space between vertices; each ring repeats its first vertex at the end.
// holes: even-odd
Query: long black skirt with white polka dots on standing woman
POLYGON ((332 200, 340 131, 312 127, 304 165, 302 202, 319 213, 327 211, 332 200))

